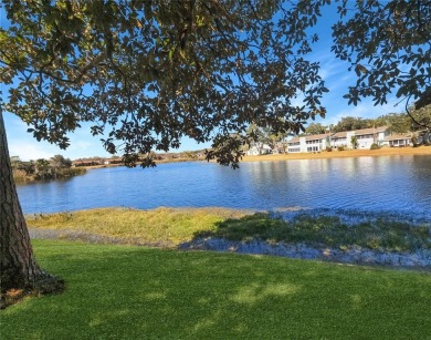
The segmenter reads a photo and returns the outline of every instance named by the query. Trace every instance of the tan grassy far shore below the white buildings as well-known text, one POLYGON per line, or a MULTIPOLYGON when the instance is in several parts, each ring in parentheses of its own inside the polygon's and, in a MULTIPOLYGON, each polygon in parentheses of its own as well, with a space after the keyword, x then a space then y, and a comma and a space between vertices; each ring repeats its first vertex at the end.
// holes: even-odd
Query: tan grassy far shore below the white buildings
POLYGON ((347 157, 369 157, 369 156, 407 156, 407 155, 430 155, 431 156, 431 146, 382 147, 379 150, 346 150, 346 151, 332 151, 332 152, 323 151, 319 153, 267 154, 267 155, 257 155, 257 156, 244 156, 242 158, 242 162, 347 158, 347 157))

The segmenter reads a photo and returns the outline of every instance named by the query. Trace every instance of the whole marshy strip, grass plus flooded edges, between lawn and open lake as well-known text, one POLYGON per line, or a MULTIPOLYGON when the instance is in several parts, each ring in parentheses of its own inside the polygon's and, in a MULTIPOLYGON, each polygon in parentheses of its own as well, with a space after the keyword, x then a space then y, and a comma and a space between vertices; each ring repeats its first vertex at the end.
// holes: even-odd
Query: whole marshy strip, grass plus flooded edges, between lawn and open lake
POLYGON ((146 246, 431 271, 431 219, 332 212, 104 208, 28 216, 33 239, 146 246))

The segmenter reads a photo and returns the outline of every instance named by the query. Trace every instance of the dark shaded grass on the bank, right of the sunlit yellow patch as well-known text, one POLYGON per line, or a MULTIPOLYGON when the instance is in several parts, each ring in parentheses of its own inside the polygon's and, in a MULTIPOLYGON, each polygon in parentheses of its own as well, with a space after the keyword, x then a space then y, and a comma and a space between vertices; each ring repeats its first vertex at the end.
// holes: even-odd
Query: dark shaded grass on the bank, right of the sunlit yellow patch
POLYGON ((286 221, 267 213, 256 213, 241 218, 217 223, 213 230, 196 233, 187 246, 202 239, 230 241, 264 241, 267 244, 305 244, 313 247, 385 249, 387 251, 414 251, 431 249, 430 226, 412 226, 393 220, 370 220, 347 225, 337 216, 298 215, 286 221))

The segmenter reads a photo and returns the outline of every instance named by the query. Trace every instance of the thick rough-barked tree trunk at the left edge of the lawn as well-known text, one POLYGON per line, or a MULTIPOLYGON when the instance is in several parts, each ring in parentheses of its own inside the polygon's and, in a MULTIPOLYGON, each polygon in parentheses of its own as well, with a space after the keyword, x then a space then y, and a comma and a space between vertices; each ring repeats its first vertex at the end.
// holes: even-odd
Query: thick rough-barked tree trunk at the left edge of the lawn
POLYGON ((61 289, 63 282, 44 272, 36 264, 27 223, 18 199, 9 158, 0 106, 0 308, 7 306, 7 292, 46 292, 61 289))

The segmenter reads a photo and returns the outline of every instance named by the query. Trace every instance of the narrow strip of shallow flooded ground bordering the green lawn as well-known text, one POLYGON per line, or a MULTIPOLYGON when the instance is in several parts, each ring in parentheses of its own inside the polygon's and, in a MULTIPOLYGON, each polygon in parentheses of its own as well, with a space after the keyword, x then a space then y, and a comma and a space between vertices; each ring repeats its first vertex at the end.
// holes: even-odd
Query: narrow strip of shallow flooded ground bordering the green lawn
MULTIPOLYGON (((29 227, 31 239, 66 239, 102 245, 132 245, 139 247, 172 249, 172 245, 159 243, 141 243, 123 239, 120 237, 102 236, 71 229, 41 229, 29 227)), ((180 244, 180 250, 234 253, 242 255, 277 256, 293 259, 330 261, 345 265, 378 266, 392 269, 409 269, 431 272, 431 250, 417 251, 383 251, 380 249, 366 249, 353 247, 337 249, 334 247, 313 247, 304 243, 271 244, 264 240, 234 241, 223 238, 197 238, 180 244)))

